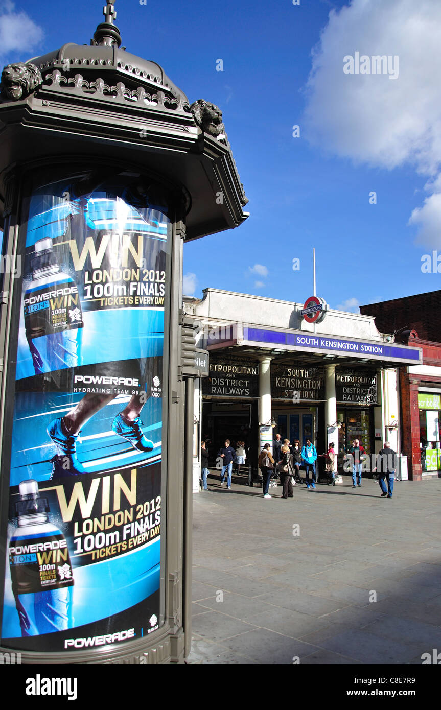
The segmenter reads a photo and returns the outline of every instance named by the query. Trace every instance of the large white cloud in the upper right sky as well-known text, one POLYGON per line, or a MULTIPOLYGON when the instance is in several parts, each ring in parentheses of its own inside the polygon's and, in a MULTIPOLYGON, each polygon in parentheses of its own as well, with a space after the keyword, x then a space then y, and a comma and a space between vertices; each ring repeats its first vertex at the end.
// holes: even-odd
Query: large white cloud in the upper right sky
POLYGON ((435 229, 441 234, 440 35, 441 3, 433 0, 352 0, 332 10, 312 54, 303 132, 355 163, 409 164, 428 175, 435 194, 409 220, 428 244, 435 229), (345 74, 344 57, 357 51, 398 56, 398 78, 345 74))

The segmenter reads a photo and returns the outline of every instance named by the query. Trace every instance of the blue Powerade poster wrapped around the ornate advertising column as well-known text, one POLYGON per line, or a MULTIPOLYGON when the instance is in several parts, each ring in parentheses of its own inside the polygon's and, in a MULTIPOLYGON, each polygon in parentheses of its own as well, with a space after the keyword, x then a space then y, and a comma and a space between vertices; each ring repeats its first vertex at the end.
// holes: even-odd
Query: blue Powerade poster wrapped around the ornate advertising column
POLYGON ((79 175, 29 201, 8 648, 84 650, 158 628, 169 225, 160 190, 129 173, 79 175))

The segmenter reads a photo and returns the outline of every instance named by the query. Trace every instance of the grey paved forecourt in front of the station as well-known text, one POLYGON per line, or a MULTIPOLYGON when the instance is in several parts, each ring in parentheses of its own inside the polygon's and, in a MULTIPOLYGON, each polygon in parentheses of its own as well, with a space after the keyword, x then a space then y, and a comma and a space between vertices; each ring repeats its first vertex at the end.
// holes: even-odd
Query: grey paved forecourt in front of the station
POLYGON ((190 663, 421 664, 441 650, 441 479, 296 485, 209 476, 194 496, 190 663))

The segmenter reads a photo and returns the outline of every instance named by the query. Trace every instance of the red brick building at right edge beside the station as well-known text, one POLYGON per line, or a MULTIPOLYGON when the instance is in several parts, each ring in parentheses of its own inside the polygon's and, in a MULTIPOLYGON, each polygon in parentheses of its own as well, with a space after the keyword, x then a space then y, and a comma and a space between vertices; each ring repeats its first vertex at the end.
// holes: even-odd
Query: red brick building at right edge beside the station
POLYGON ((423 349, 423 364, 399 368, 401 441, 409 478, 441 476, 441 290, 360 307, 396 342, 423 349))

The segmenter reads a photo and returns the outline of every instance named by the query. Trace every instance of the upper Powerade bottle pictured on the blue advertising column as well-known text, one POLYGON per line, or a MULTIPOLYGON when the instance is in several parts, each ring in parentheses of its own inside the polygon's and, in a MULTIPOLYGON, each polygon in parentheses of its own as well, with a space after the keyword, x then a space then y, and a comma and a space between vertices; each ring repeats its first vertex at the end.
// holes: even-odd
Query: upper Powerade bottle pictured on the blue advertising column
POLYGON ((36 375, 82 363, 82 310, 75 281, 63 273, 52 239, 35 244, 32 281, 24 295, 26 338, 36 375))

